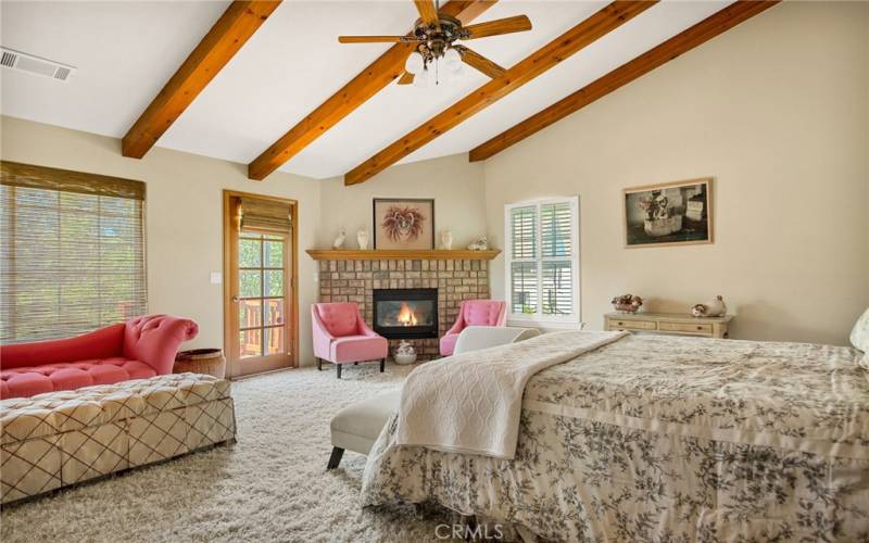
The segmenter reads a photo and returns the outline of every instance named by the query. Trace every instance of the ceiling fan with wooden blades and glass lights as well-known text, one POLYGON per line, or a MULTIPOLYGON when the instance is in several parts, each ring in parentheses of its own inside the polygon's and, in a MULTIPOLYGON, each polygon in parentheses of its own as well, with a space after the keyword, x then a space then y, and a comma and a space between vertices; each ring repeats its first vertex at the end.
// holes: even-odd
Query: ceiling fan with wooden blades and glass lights
POLYGON ((341 43, 414 43, 414 51, 404 63, 404 75, 399 85, 414 84, 427 87, 439 83, 439 62, 443 61, 446 71, 457 74, 462 63, 482 72, 489 77, 499 77, 504 68, 486 56, 475 52, 458 40, 487 38, 501 34, 512 34, 531 29, 531 21, 526 15, 499 18, 487 23, 464 26, 456 17, 438 11, 436 0, 413 0, 419 18, 414 29, 405 36, 339 36, 341 43))

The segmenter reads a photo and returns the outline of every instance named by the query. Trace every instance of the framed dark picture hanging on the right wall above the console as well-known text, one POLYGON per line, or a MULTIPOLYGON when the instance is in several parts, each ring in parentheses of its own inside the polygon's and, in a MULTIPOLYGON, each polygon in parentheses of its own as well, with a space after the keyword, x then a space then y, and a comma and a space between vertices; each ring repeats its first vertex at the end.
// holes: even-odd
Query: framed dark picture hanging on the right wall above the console
POLYGON ((625 189, 625 247, 713 242, 713 178, 625 189))

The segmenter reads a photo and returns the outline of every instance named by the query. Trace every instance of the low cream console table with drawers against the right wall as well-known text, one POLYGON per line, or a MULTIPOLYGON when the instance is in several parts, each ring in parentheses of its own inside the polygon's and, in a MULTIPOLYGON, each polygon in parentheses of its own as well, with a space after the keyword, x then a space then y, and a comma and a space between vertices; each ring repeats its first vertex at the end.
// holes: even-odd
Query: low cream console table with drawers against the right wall
POLYGON ((688 313, 607 313, 604 315, 604 330, 727 338, 732 318, 733 315, 695 317, 688 313))

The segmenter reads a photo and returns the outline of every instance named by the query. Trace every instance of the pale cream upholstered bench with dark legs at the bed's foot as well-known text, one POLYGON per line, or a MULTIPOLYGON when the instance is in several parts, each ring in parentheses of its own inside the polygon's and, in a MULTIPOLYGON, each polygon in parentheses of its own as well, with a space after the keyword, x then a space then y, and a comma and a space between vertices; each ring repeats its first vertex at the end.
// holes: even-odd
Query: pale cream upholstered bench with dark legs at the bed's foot
MULTIPOLYGON (((470 326, 462 331, 453 354, 516 343, 539 334, 536 328, 470 326)), ((368 454, 399 403, 401 389, 362 400, 338 412, 330 424, 332 453, 326 469, 337 468, 345 450, 368 454)))

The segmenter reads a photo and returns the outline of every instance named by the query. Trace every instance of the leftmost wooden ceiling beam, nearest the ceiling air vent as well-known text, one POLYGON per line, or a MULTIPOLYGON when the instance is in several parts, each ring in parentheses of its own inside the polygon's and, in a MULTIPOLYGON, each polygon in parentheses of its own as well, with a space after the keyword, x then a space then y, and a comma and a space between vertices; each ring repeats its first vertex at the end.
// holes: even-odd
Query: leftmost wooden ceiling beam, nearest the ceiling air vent
POLYGON ((121 141, 124 156, 141 159, 211 83, 280 0, 234 1, 121 141))

